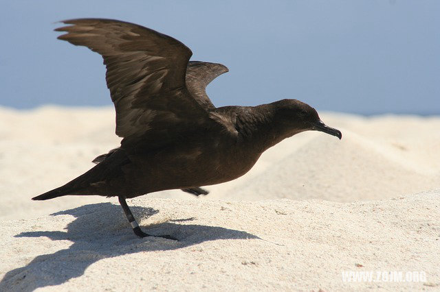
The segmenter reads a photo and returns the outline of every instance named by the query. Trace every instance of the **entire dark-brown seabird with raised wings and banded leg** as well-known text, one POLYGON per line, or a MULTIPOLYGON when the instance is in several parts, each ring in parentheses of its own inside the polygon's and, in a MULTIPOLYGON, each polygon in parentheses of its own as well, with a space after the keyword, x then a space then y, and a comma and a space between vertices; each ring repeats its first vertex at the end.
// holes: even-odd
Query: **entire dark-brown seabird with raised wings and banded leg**
POLYGON ((318 112, 297 99, 259 106, 216 108, 206 86, 228 72, 223 64, 190 61, 182 42, 134 23, 112 19, 61 21, 58 36, 99 53, 115 106, 118 148, 63 186, 33 197, 118 197, 133 232, 141 230, 126 199, 170 189, 206 195, 201 186, 247 173, 268 148, 300 132, 316 130, 342 138, 318 112))

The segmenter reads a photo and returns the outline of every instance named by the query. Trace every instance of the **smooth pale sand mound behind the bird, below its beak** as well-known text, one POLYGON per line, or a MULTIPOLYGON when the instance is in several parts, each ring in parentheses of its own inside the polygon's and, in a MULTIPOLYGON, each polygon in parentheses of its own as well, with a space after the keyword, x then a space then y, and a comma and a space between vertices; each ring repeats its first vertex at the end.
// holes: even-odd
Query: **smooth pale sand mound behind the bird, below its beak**
POLYGON ((317 136, 255 178, 232 188, 226 197, 353 202, 439 186, 439 175, 406 165, 404 158, 399 158, 402 151, 405 150, 378 147, 349 130, 344 131, 343 141, 317 136))

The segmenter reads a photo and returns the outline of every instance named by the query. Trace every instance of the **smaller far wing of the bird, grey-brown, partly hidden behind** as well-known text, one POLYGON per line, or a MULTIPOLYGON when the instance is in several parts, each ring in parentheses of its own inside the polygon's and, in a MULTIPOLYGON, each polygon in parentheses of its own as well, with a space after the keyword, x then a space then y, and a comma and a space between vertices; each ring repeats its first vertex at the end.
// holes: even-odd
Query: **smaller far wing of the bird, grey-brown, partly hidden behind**
POLYGON ((206 94, 206 86, 216 77, 228 71, 228 67, 222 64, 190 61, 188 68, 186 68, 186 87, 203 108, 212 110, 215 106, 206 94))

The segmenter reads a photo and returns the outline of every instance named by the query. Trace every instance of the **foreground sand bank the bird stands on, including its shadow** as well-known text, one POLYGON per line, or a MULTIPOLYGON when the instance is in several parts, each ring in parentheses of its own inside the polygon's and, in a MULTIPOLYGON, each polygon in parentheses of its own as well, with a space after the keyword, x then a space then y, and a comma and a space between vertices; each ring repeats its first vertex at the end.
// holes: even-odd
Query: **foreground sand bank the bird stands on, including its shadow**
POLYGON ((0 290, 439 289, 439 200, 131 201, 144 230, 179 241, 137 239, 109 203, 3 221, 0 290), (344 282, 344 271, 417 271, 426 282, 344 282))

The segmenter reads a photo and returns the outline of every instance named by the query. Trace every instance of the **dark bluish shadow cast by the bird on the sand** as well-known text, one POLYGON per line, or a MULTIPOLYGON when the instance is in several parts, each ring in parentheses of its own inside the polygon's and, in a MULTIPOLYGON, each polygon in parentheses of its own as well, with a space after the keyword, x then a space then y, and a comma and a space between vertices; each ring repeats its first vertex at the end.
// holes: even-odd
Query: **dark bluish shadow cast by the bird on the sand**
MULTIPOLYGON (((136 206, 131 207, 131 210, 137 218, 159 212, 153 208, 136 206)), ((65 232, 22 232, 15 237, 46 236, 53 241, 67 240, 73 244, 53 254, 36 256, 25 267, 8 271, 0 282, 1 291, 33 291, 39 287, 63 284, 69 279, 80 277, 89 265, 104 258, 137 252, 177 250, 219 239, 259 239, 258 236, 239 230, 190 224, 194 218, 177 218, 155 226, 141 226, 147 233, 169 234, 179 241, 157 237, 140 239, 131 230, 122 208, 111 203, 89 204, 52 215, 73 215, 76 219, 67 224, 65 232)))

